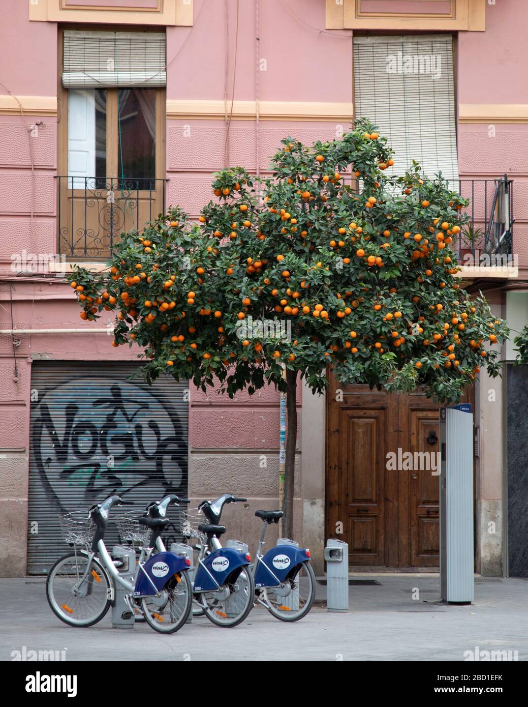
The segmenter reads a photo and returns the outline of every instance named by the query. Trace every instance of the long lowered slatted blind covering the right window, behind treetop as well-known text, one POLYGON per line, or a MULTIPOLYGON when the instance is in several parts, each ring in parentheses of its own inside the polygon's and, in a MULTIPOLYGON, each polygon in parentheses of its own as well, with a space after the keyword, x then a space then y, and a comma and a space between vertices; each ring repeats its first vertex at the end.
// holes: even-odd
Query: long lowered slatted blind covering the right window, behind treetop
POLYGON ((367 117, 394 149, 393 174, 412 160, 458 178, 451 35, 354 37, 356 119, 367 117))

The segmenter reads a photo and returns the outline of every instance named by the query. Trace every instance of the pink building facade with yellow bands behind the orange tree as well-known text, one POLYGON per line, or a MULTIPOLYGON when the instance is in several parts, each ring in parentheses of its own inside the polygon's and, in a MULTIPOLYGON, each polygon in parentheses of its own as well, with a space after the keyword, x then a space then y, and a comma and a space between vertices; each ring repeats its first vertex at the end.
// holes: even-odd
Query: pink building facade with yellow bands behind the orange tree
MULTIPOLYGON (((244 539, 254 539, 259 530, 253 511, 275 508, 278 503, 276 392, 265 390, 228 401, 214 391, 187 391, 184 385, 171 391, 168 384, 160 384, 152 393, 145 392, 144 386, 133 389, 123 371, 130 372, 137 352, 112 348, 104 319, 86 325, 78 317, 76 298, 60 272, 60 257, 64 256, 66 267, 82 261, 101 268, 111 243, 107 232, 106 240, 98 241, 93 234, 87 240, 90 218, 98 206, 92 204, 92 213, 86 216, 89 199, 82 194, 70 197, 75 184, 67 180, 86 180, 87 174, 93 180, 98 177, 99 182, 89 186, 98 190, 95 201, 105 201, 105 192, 112 191, 105 180, 123 175, 124 163, 134 155, 110 155, 112 105, 117 105, 115 124, 123 130, 127 126, 126 117, 119 114, 122 94, 112 98, 110 87, 115 84, 103 83, 108 86, 103 143, 110 173, 102 173, 103 179, 86 168, 71 171, 71 141, 81 138, 74 134, 77 114, 68 92, 79 89, 64 86, 65 37, 72 31, 83 41, 83 33, 86 37, 136 32, 165 37, 166 79, 149 86, 156 92, 151 103, 156 116, 148 121, 141 96, 139 108, 134 108, 143 110, 142 127, 147 140, 151 134, 156 158, 155 172, 139 175, 142 188, 136 189, 141 192, 136 194, 137 214, 143 220, 148 218, 149 199, 155 208, 163 208, 161 201, 165 206, 179 204, 196 218, 211 198, 211 173, 226 165, 242 165, 265 175, 269 156, 283 136, 311 143, 334 139, 350 128, 354 117, 359 117, 357 105, 365 105, 368 92, 375 93, 372 86, 378 85, 376 74, 368 74, 377 70, 375 64, 363 64, 365 74, 358 73, 357 62, 367 61, 368 52, 362 54, 362 47, 371 37, 380 46, 385 39, 390 46, 401 35, 410 37, 405 40, 410 42, 439 37, 434 42, 447 47, 444 66, 452 66, 445 105, 452 103, 454 112, 446 118, 452 119, 451 132, 440 134, 440 121, 434 128, 439 140, 451 141, 447 147, 453 150, 456 167, 450 176, 458 180, 464 196, 473 197, 475 228, 487 233, 494 215, 495 221, 506 224, 508 238, 512 235, 510 246, 501 251, 513 257, 508 267, 475 262, 464 281, 475 291, 486 291, 497 314, 520 329, 528 320, 527 29, 528 11, 522 0, 497 4, 486 0, 27 0, 6 8, 0 30, 0 366, 4 380, 0 575, 45 571, 54 551, 52 520, 57 513, 79 508, 88 498, 100 500, 98 493, 104 496, 119 484, 143 489, 144 497, 147 491, 156 496, 168 488, 179 489, 189 493, 194 505, 226 491, 247 496, 248 508, 229 508, 225 518, 230 537, 244 539), (370 76, 368 88, 359 81, 361 75, 370 76), (497 198, 503 199, 500 215, 493 199, 495 180, 504 175, 508 187, 498 190, 497 198), (32 254, 41 260, 37 271, 32 254), (47 255, 58 258, 53 261, 47 255), (146 402, 137 407, 142 395, 146 402), (149 454, 152 440, 143 450, 140 440, 127 457, 119 440, 114 439, 113 448, 104 448, 94 437, 95 428, 104 436, 105 424, 116 423, 125 414, 116 396, 128 401, 124 428, 132 425, 134 410, 145 434, 152 430, 150 423, 157 424, 160 434, 166 433, 165 438, 170 437, 170 444, 177 447, 175 452, 168 443, 161 452, 163 468, 149 454), (101 399, 107 402, 101 404, 101 399), (108 400, 115 406, 113 413, 108 400), (145 416, 145 409, 151 418, 145 416), (74 420, 70 427, 69 414, 74 420), (168 421, 171 417, 177 425, 168 421), (79 418, 84 427, 77 429, 79 418), (92 449, 92 440, 99 444, 97 450, 92 449), (105 466, 107 457, 120 459, 115 474, 111 470, 116 467, 105 466), (134 476, 133 481, 123 481, 125 471, 134 476)), ((434 83, 433 78, 428 80, 434 83)), ((92 89, 92 84, 86 88, 92 89)), ((439 100, 438 90, 430 95, 439 100)), ((419 107, 419 100, 425 105, 430 96, 416 100, 419 107)), ((100 160, 98 110, 96 98, 96 148, 87 153, 95 165, 100 160)), ((394 128, 395 141, 409 141, 413 131, 420 131, 419 120, 416 125, 404 123, 405 128, 394 128)), ((83 124, 83 130, 88 125, 92 123, 83 124)), ((426 139, 426 132, 423 135, 426 139)), ((505 361, 513 360, 512 344, 505 346, 503 354, 505 361)), ((490 381, 483 375, 472 397, 478 435, 475 558, 476 571, 484 575, 528 573, 528 546, 522 539, 528 503, 519 472, 524 463, 519 440, 526 432, 522 391, 528 392, 524 370, 505 363, 503 378, 490 381)), ((357 404, 347 419, 370 414, 370 404, 374 409, 377 402, 357 404)), ((390 408, 394 401, 383 404, 390 408)), ((312 548, 319 572, 323 571, 324 538, 335 532, 327 525, 329 504, 345 503, 341 482, 346 474, 352 474, 352 490, 355 483, 342 455, 341 467, 332 463, 333 445, 341 445, 345 457, 349 454, 353 459, 355 454, 353 448, 346 452, 344 431, 329 429, 332 405, 330 395, 314 397, 306 390, 298 399, 295 522, 299 537, 312 548)), ((348 409, 340 410, 348 414, 348 409)), ((434 426, 438 410, 433 407, 429 413, 426 426, 434 426)), ((133 436, 132 427, 126 431, 133 436)), ((424 431, 428 430, 424 427, 424 431)), ((434 540, 438 518, 430 514, 431 524, 430 518, 416 511, 407 483, 398 492, 399 503, 414 510, 409 510, 408 520, 400 520, 399 535, 405 536, 407 522, 411 535, 416 526, 418 551, 397 551, 389 547, 387 538, 380 540, 388 534, 380 528, 385 524, 387 530, 389 511, 379 510, 382 499, 373 498, 375 491, 368 489, 364 503, 379 510, 373 534, 363 530, 365 524, 355 522, 353 512, 343 511, 354 568, 438 566, 434 540)), ((142 492, 137 493, 143 500, 142 492)), ((435 507, 438 501, 433 498, 430 508, 435 507)))

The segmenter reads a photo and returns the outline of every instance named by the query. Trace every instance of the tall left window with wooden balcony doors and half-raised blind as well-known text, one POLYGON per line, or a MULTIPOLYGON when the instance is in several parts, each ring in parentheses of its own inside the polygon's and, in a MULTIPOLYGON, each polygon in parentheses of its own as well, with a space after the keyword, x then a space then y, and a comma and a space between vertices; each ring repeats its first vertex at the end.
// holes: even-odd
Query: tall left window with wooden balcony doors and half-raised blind
POLYGON ((64 30, 59 252, 108 257, 165 201, 165 35, 64 30))

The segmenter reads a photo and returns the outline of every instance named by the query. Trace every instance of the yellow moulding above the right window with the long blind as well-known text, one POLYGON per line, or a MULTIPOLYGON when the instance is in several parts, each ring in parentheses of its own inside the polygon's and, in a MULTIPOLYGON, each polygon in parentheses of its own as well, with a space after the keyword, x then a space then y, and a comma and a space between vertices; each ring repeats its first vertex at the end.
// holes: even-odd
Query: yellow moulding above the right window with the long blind
MULTIPOLYGON (((418 0, 416 0, 418 1, 418 0)), ((440 2, 440 0, 437 0, 440 2)), ((366 12, 361 0, 326 0, 329 30, 434 30, 483 32, 486 30, 486 0, 450 0, 449 13, 366 12)))

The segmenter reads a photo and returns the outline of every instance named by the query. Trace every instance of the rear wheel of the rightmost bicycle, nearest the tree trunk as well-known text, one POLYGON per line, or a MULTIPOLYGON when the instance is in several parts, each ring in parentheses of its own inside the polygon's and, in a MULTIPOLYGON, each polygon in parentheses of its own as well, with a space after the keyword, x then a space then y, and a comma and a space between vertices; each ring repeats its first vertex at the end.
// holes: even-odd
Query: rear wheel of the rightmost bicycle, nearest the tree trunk
POLYGON ((287 579, 281 587, 266 589, 264 605, 276 619, 298 621, 310 611, 314 599, 315 574, 310 562, 303 562, 295 577, 287 579))

